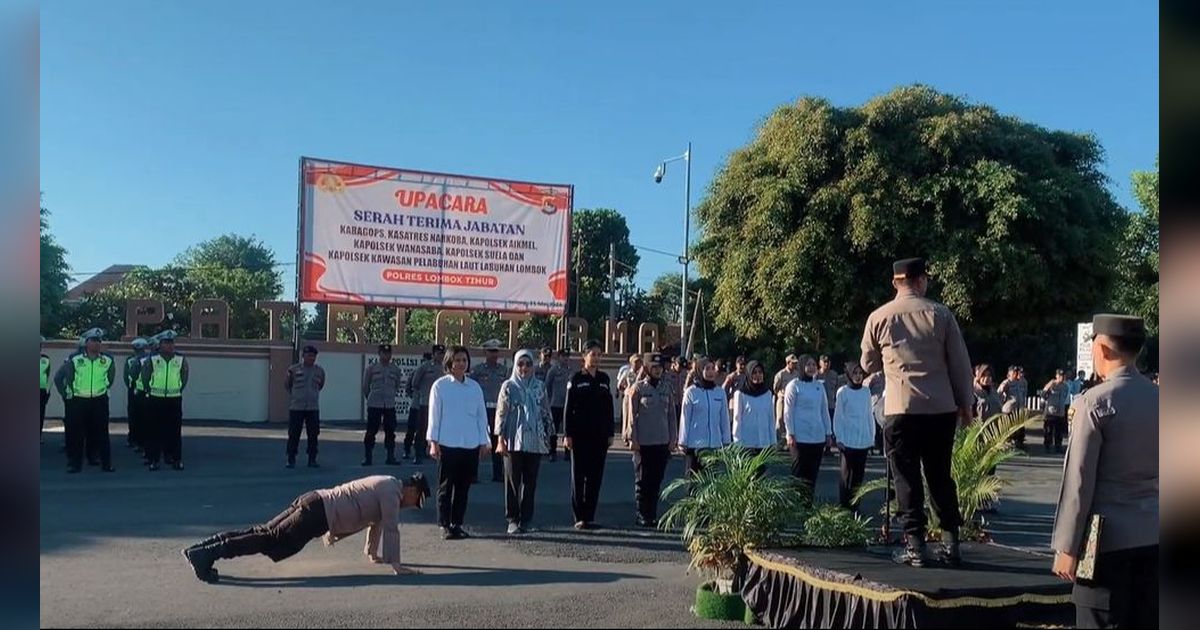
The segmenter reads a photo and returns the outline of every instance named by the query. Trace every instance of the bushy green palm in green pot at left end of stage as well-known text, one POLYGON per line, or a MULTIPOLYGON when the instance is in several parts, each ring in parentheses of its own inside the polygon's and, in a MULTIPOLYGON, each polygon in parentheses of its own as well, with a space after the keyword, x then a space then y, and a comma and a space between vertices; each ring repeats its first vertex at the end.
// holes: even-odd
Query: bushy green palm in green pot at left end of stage
POLYGON ((679 498, 659 527, 678 527, 691 554, 689 570, 712 578, 696 590, 698 617, 742 619, 745 604, 732 587, 745 551, 799 540, 787 528, 804 522, 809 492, 790 476, 764 475, 774 457, 774 449, 758 454, 737 445, 713 450, 701 455, 700 473, 676 479, 662 491, 664 499, 679 498))

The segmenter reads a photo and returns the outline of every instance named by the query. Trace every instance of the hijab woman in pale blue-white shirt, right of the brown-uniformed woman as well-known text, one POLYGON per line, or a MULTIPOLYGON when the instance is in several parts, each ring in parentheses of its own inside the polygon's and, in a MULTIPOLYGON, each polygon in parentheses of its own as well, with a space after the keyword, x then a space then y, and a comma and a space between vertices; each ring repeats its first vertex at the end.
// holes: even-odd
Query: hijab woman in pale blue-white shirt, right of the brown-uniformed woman
POLYGON ((683 392, 679 413, 679 445, 691 474, 700 472, 702 452, 720 449, 732 440, 730 406, 725 390, 716 384, 716 365, 701 358, 696 368, 697 380, 683 392))

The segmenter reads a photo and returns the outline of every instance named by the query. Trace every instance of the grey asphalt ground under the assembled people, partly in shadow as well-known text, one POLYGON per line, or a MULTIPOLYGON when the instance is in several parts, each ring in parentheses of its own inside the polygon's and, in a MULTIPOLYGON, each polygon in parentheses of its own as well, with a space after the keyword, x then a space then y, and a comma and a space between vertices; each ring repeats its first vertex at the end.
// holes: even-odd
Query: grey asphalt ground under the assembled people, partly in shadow
MULTIPOLYGON (((690 611, 701 577, 688 575, 677 533, 632 527, 632 463, 614 448, 605 470, 596 532, 576 532, 570 473, 544 462, 535 530, 510 538, 503 486, 473 486, 470 540, 444 541, 432 502, 401 514, 406 564, 422 575, 395 576, 362 556, 364 535, 334 547, 313 541, 272 563, 256 556, 221 560, 218 584, 196 580, 179 550, 212 533, 259 523, 313 488, 367 474, 422 470, 433 462, 362 468, 361 431, 324 427, 318 469, 284 469, 286 430, 268 425, 187 426, 186 470, 149 472, 114 422, 115 473, 85 467, 66 474, 61 425, 47 424, 41 446, 41 619, 62 626, 457 626, 457 628, 719 628, 690 611)), ((1031 443, 1038 439, 1030 436, 1031 443)), ((382 442, 382 436, 380 436, 382 442)), ((301 444, 301 450, 304 445, 301 444)), ((1040 451, 1040 445, 1033 448, 1040 451)), ((383 461, 382 444, 376 462, 383 461)), ((674 458, 667 479, 680 475, 674 458)), ((786 474, 779 467, 778 474, 786 474)), ((990 517, 997 542, 1045 551, 1061 458, 1019 457, 990 517)), ((883 474, 871 457, 868 479, 883 474)), ((488 464, 480 478, 490 478, 488 464)), ((836 497, 838 458, 826 458, 820 498, 836 497)), ((866 505, 874 514, 877 505, 866 505)), ((878 518, 876 518, 878 524, 878 518)), ((1048 559, 1049 570, 1049 559, 1048 559)))

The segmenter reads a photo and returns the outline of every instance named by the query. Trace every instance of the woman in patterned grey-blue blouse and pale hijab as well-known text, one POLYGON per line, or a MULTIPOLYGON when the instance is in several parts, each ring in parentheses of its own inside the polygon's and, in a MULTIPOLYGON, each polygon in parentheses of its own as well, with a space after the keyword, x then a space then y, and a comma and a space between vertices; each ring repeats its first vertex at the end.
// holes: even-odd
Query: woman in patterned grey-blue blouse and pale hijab
POLYGON ((504 457, 504 516, 509 534, 528 532, 538 491, 538 467, 554 433, 546 385, 534 376, 533 350, 516 354, 512 376, 496 403, 496 452, 504 457))

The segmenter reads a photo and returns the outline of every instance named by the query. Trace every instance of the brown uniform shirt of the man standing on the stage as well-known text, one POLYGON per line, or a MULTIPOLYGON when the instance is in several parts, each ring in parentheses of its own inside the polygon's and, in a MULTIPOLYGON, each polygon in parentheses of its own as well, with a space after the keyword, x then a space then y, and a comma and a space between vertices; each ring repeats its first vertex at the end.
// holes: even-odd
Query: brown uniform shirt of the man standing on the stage
POLYGON ((901 292, 863 330, 863 370, 883 371, 886 415, 944 414, 974 404, 971 358, 946 305, 901 292))

